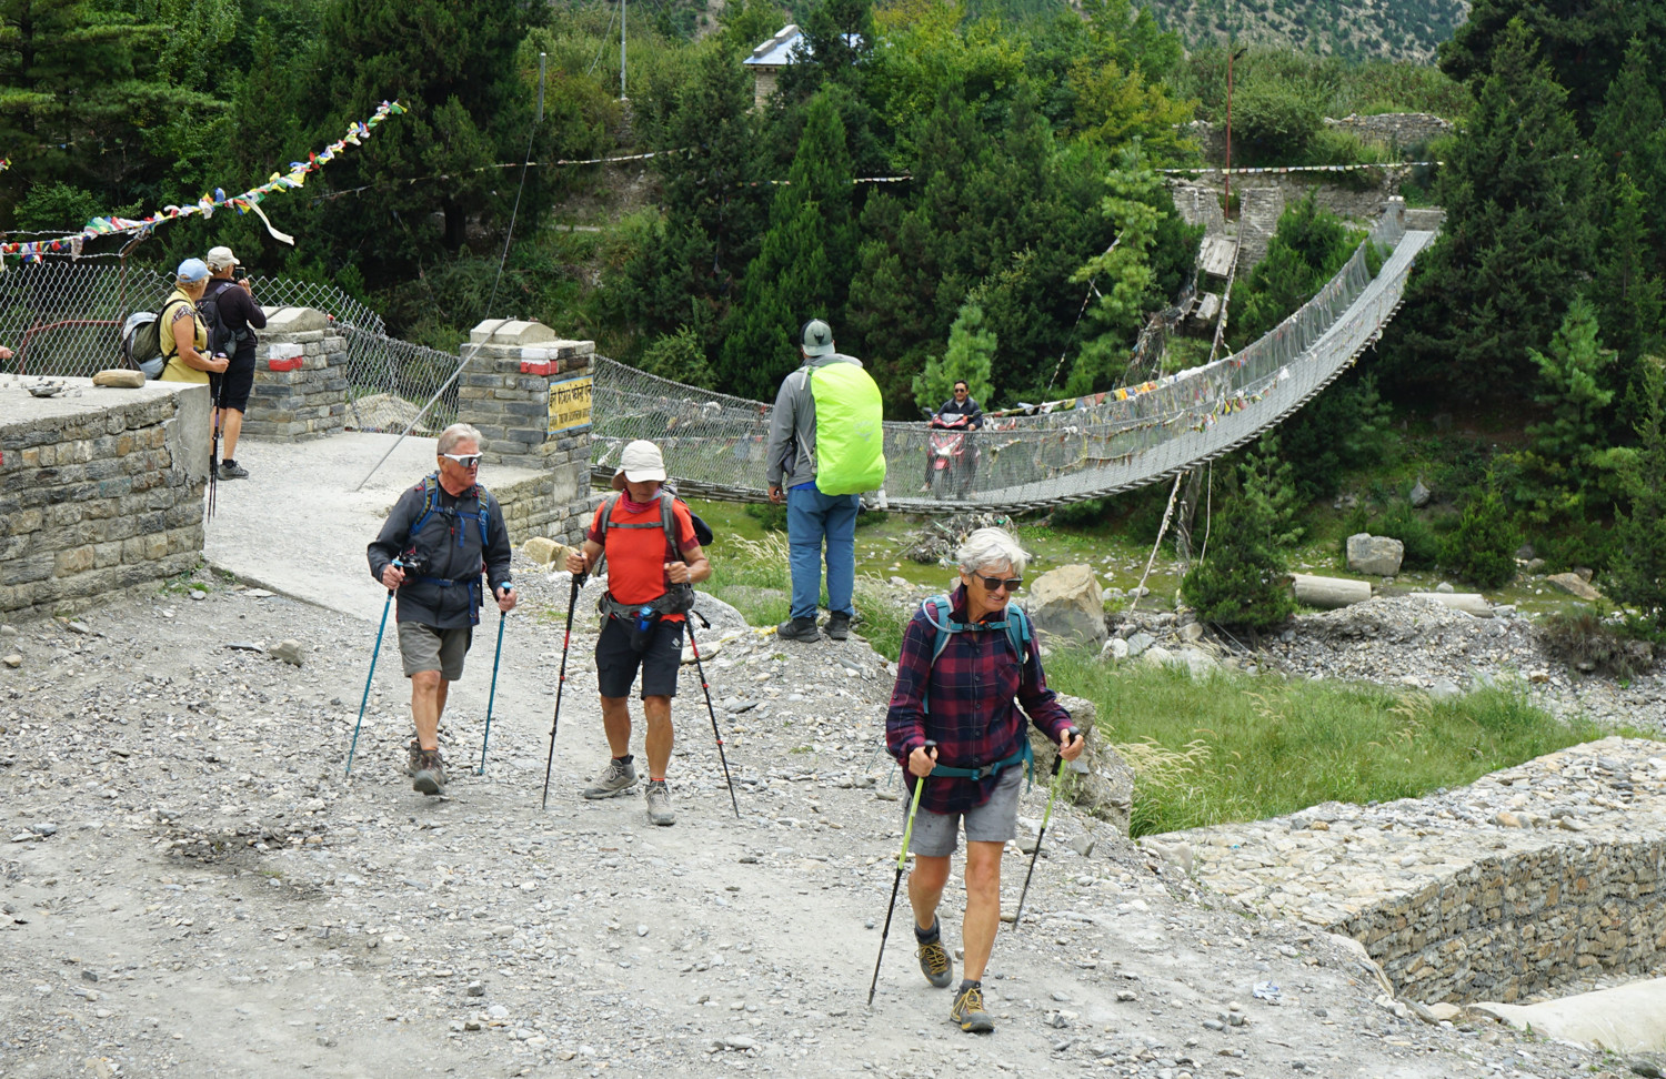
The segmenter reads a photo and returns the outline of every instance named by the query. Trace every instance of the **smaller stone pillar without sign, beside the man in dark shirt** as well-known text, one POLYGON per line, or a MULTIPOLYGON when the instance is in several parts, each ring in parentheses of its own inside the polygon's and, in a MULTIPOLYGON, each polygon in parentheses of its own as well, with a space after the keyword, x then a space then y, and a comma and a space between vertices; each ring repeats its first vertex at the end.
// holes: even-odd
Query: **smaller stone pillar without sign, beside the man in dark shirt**
POLYGON ((243 438, 302 441, 347 426, 347 338, 313 308, 265 308, 243 438))

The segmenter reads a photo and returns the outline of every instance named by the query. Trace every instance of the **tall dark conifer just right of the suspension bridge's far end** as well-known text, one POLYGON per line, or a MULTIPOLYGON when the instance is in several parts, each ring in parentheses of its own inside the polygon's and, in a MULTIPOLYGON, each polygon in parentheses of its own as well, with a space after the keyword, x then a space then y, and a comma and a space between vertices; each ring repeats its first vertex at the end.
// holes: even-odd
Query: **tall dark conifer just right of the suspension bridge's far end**
POLYGON ((1441 172, 1446 223, 1401 315, 1409 381, 1476 395, 1529 380, 1528 348, 1549 340, 1569 283, 1591 273, 1588 167, 1566 97, 1513 22, 1441 172))

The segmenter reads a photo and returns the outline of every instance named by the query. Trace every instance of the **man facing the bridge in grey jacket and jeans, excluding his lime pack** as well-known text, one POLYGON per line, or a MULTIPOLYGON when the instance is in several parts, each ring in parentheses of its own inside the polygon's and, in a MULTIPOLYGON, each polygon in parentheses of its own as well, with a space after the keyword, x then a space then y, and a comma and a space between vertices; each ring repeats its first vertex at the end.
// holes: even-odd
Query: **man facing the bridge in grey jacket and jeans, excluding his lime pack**
POLYGON ((823 495, 816 488, 816 400, 810 391, 810 371, 831 363, 855 363, 833 350, 833 328, 811 318, 800 331, 805 365, 781 380, 770 413, 770 445, 765 450, 770 501, 786 501, 786 540, 793 569, 791 618, 775 628, 788 641, 820 641, 816 629, 821 598, 821 543, 826 541, 828 566, 828 636, 850 636, 850 619, 856 613, 851 591, 856 586, 856 508, 858 495, 823 495), (785 493, 783 493, 785 478, 785 493))

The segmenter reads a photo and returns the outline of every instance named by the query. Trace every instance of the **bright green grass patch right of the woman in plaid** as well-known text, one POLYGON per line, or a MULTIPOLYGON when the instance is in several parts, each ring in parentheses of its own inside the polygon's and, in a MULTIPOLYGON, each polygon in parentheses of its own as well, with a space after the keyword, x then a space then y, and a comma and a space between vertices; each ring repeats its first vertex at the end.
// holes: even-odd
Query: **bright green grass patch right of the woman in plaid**
POLYGON ((1421 798, 1609 734, 1563 723, 1519 691, 1434 701, 1366 683, 1278 681, 1108 666, 1055 653, 1048 683, 1100 709, 1135 769, 1131 834, 1256 821, 1323 801, 1421 798))

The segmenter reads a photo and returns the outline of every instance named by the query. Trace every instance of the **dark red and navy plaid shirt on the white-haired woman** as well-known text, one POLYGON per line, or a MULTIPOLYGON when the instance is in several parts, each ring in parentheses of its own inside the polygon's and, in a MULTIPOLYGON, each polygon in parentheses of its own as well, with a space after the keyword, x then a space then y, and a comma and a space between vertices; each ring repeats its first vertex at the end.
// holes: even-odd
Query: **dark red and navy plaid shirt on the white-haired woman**
MULTIPOLYGON (((955 589, 950 606, 955 609, 953 619, 965 621, 965 586, 955 589)), ((908 773, 908 754, 926 739, 938 743, 938 764, 980 768, 1023 749, 1028 738, 1025 714, 1053 741, 1071 726, 1070 713, 1046 688, 1041 658, 1033 646, 1020 663, 1005 629, 968 629, 950 634, 933 663, 936 633, 925 611, 916 611, 903 629, 896 688, 891 689, 891 708, 885 714, 886 748, 901 763, 910 784, 913 776, 908 773), (921 706, 921 694, 928 688, 930 714, 921 706), (1023 713, 1018 704, 1023 704, 1023 713)), ((933 813, 965 813, 990 801, 996 781, 998 776, 926 778, 920 806, 933 813)))

